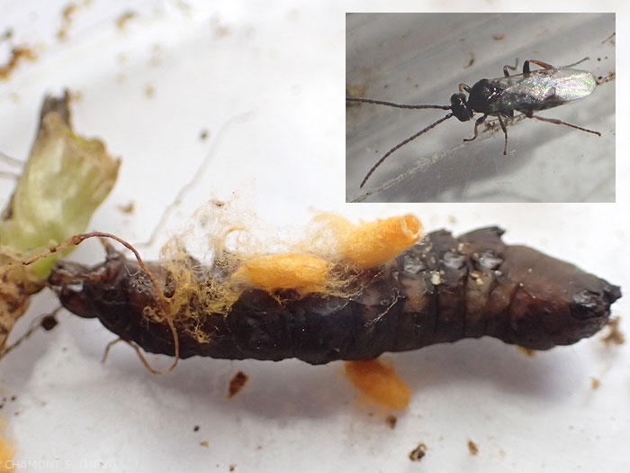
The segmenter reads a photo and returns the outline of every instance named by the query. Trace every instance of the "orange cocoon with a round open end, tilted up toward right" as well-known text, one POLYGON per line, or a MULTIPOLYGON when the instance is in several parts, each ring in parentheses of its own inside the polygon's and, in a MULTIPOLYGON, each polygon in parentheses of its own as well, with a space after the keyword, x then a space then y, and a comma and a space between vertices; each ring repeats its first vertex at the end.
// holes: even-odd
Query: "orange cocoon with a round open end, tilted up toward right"
POLYGON ((361 268, 374 268, 410 248, 422 224, 414 215, 352 225, 338 232, 340 254, 361 268))

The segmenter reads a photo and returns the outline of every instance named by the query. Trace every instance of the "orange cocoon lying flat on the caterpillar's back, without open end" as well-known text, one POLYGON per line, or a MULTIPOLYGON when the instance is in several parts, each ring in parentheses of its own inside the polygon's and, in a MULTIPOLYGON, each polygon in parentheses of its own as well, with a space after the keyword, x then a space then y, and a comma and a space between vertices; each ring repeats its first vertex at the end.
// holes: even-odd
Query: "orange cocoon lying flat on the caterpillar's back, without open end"
POLYGON ((273 292, 275 289, 294 289, 301 296, 324 292, 329 264, 317 256, 283 253, 255 256, 238 268, 234 278, 246 279, 254 287, 273 292))

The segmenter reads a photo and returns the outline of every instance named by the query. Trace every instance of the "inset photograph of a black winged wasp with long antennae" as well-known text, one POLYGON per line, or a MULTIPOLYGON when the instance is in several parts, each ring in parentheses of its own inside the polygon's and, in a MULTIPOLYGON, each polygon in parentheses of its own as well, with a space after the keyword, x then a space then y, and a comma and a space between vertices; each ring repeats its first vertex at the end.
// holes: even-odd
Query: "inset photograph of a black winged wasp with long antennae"
POLYGON ((615 14, 347 14, 347 202, 615 202, 615 14))

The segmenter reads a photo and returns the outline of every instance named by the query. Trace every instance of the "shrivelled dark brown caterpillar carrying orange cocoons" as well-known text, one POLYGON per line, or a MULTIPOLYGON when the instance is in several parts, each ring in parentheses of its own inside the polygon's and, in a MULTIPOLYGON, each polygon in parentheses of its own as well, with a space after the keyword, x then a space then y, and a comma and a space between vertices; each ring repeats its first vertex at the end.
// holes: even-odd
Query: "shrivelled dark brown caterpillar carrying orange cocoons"
MULTIPOLYGON (((353 297, 299 298, 283 302, 260 289, 243 292, 228 314, 196 314, 193 336, 173 317, 179 356, 220 359, 373 359, 384 351, 416 350, 434 343, 491 336, 528 349, 547 350, 590 337, 607 322, 619 287, 525 246, 508 246, 497 227, 459 238, 429 233, 391 264, 365 271, 353 297)), ((168 299, 174 283, 158 263, 147 263, 168 299)), ((216 275, 199 269, 199 284, 216 275)), ((136 261, 108 249, 93 268, 61 261, 49 287, 69 311, 98 318, 124 341, 174 355, 166 321, 149 320, 157 295, 136 261)), ((194 313, 192 297, 186 310, 194 313)))

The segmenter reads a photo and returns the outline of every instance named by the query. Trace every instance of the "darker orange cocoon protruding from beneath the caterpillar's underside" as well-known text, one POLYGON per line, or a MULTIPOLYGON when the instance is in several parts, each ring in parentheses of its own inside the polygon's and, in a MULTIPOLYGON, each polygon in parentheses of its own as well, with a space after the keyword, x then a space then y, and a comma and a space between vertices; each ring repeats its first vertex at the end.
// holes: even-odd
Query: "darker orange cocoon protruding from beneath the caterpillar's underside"
POLYGON ((410 403, 410 388, 394 368, 378 359, 347 361, 346 376, 373 403, 387 409, 404 409, 410 403))

